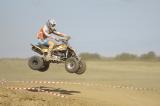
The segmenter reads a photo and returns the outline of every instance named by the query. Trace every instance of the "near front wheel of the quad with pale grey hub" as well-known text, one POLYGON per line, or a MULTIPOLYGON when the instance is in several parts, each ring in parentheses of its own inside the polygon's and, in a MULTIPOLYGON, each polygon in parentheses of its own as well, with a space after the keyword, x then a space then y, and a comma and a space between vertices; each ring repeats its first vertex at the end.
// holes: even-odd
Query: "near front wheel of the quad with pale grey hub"
POLYGON ((79 61, 75 57, 70 57, 65 62, 65 69, 69 73, 76 73, 79 69, 79 61))

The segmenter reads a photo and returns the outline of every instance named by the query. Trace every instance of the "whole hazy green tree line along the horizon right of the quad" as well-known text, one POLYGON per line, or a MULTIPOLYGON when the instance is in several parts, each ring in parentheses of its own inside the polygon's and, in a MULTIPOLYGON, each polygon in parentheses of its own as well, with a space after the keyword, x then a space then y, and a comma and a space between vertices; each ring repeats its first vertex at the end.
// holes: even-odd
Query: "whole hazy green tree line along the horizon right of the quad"
POLYGON ((141 55, 132 53, 121 53, 114 57, 101 56, 98 53, 81 53, 80 56, 84 60, 120 60, 120 61, 160 61, 160 56, 155 52, 150 51, 141 55))

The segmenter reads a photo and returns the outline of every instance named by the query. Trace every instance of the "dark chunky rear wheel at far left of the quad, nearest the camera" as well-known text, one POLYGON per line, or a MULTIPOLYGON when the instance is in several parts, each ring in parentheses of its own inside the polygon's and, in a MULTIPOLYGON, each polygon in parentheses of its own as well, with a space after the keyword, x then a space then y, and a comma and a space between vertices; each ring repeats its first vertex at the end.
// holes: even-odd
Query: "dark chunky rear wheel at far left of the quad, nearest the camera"
POLYGON ((29 60, 28 60, 28 66, 29 66, 32 70, 42 69, 42 67, 44 66, 43 58, 42 58, 42 57, 39 57, 39 56, 32 56, 32 57, 29 58, 29 60))

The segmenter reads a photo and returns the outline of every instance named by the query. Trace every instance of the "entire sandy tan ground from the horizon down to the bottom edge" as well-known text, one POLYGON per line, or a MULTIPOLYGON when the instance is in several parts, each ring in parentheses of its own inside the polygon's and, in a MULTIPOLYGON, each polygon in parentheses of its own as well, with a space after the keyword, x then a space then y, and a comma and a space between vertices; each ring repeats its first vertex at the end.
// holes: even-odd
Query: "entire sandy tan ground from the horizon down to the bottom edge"
POLYGON ((2 106, 160 106, 158 62, 87 62, 87 72, 77 76, 65 72, 62 65, 54 66, 61 71, 51 71, 50 67, 48 72, 39 73, 26 66, 15 68, 25 61, 13 61, 0 64, 1 79, 9 81, 0 84, 2 106), (12 82, 18 80, 25 82, 12 82))

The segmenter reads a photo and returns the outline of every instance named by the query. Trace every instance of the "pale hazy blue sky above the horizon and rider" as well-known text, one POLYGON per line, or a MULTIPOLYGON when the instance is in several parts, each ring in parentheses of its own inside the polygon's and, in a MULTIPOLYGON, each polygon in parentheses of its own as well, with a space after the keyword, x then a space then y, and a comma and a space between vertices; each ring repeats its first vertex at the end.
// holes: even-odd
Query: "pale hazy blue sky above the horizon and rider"
POLYGON ((50 18, 78 53, 160 55, 160 0, 1 0, 0 58, 32 56, 50 18))

